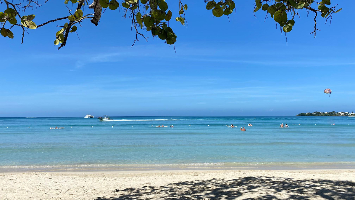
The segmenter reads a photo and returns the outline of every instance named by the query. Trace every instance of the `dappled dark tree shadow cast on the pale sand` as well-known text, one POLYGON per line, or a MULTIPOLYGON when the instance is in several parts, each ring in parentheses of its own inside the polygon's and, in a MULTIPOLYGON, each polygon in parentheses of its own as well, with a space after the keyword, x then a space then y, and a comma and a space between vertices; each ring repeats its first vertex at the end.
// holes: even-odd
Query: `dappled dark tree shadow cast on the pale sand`
POLYGON ((133 199, 355 199, 355 183, 333 180, 294 180, 277 177, 195 180, 164 186, 114 190, 113 197, 95 200, 133 199))

